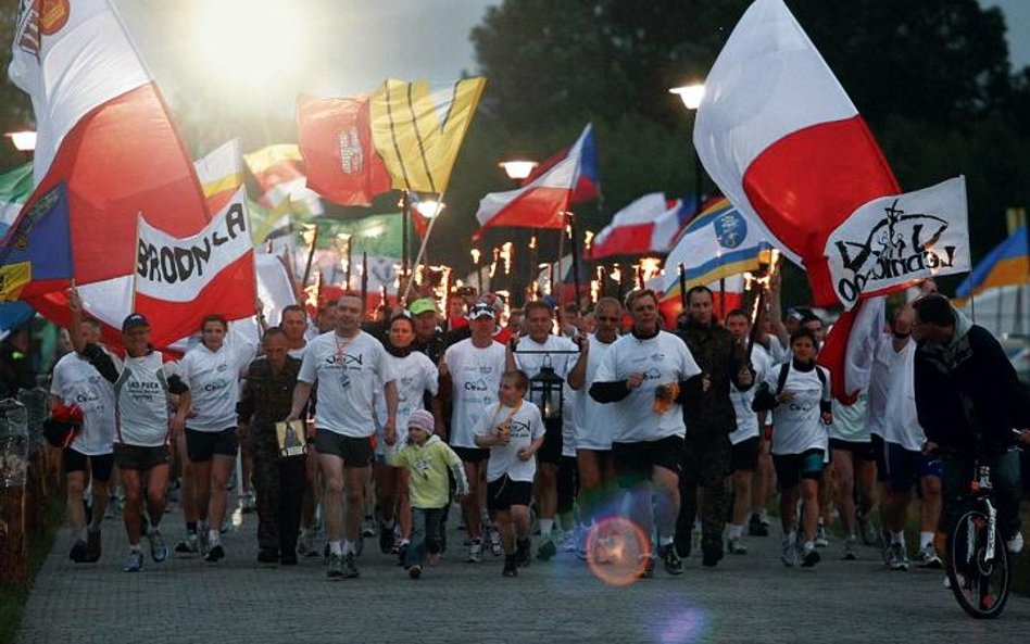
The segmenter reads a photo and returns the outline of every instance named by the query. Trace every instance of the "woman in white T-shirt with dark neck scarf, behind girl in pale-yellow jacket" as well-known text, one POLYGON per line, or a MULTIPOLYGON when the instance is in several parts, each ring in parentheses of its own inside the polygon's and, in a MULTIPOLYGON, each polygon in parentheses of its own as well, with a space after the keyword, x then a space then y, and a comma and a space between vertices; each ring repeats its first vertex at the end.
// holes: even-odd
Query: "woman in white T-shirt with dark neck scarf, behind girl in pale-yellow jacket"
MULTIPOLYGON (((389 356, 387 362, 393 365, 397 375, 397 427, 406 428, 407 419, 417 409, 425 409, 425 394, 437 395, 439 372, 425 353, 412 351, 415 341, 415 325, 406 311, 390 320, 387 341, 384 348, 389 356)), ((386 401, 377 392, 376 417, 386 417, 386 401)), ((439 424, 439 413, 434 415, 439 424)), ((379 550, 382 554, 395 552, 401 560, 407 550, 412 535, 411 498, 407 493, 407 470, 392 467, 388 452, 395 453, 407 444, 405 432, 398 432, 392 446, 386 444, 381 425, 376 424, 376 501, 379 507, 379 550), (399 528, 394 539, 394 517, 399 528)))

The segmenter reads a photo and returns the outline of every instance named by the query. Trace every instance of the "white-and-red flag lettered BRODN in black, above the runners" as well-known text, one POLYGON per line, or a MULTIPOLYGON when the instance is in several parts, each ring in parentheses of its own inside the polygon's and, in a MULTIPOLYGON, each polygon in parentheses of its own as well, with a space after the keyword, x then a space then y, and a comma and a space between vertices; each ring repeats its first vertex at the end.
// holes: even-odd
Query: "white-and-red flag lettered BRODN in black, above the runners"
POLYGON ((168 346, 204 316, 250 317, 258 298, 247 194, 240 187, 197 235, 179 238, 139 219, 133 310, 150 320, 150 341, 168 346))

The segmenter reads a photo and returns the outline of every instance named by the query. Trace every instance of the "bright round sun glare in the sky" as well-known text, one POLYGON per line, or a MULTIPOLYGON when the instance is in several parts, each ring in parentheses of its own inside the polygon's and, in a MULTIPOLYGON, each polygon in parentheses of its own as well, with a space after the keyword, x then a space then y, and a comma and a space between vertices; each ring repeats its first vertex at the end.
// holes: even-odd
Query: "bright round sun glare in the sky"
POLYGON ((224 80, 272 86, 303 63, 303 3, 281 0, 211 0, 194 17, 202 64, 224 80))

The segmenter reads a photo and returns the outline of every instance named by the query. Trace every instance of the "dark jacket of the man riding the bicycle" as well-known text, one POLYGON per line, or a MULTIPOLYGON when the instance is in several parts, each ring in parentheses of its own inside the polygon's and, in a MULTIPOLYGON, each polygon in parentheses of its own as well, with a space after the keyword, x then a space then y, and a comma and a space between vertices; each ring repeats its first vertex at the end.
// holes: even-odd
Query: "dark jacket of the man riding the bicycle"
POLYGON ((922 341, 915 356, 916 411, 927 440, 988 454, 1013 444, 1014 428, 1030 426, 1030 395, 1002 345, 983 327, 959 319, 947 345, 922 341))

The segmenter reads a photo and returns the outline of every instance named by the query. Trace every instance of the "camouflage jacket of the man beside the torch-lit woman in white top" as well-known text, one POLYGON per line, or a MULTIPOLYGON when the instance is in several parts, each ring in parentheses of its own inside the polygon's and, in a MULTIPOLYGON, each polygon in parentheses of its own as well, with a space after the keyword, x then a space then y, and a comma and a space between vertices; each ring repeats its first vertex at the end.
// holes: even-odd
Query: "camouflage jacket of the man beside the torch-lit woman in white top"
MULTIPOLYGON (((708 391, 683 405, 687 438, 730 433, 737 429, 737 414, 730 401, 730 382, 740 387, 737 375, 745 365, 744 348, 724 327, 701 325, 692 319, 681 323, 676 334, 690 349, 694 362, 708 377, 708 391)), ((754 376, 752 376, 754 378, 754 376)))

